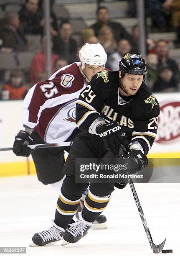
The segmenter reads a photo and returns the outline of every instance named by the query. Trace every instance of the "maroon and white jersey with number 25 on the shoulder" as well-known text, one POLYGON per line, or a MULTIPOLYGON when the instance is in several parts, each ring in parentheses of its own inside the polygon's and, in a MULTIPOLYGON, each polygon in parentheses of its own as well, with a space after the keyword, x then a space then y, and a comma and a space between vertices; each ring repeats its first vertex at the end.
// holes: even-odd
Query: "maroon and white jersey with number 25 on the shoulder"
POLYGON ((65 141, 76 128, 75 109, 87 86, 81 62, 59 69, 28 92, 23 105, 23 125, 38 132, 47 143, 65 141))

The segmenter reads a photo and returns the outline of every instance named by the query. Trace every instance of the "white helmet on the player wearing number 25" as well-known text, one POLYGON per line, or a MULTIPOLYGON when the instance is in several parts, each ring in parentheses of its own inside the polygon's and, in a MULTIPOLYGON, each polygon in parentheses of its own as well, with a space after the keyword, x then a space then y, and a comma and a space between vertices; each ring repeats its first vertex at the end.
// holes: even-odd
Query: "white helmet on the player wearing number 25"
POLYGON ((107 54, 101 44, 84 44, 79 51, 79 59, 82 64, 82 69, 85 63, 94 66, 105 66, 107 61, 107 54))

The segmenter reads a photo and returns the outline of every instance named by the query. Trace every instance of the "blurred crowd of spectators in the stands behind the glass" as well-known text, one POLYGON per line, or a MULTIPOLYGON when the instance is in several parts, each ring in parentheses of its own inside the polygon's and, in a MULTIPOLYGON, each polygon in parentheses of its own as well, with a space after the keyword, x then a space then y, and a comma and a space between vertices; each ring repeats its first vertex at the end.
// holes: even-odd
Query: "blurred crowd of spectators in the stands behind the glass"
MULTIPOLYGON (((136 1, 129 0, 128 17, 136 16, 136 1)), ((109 9, 100 6, 96 11, 96 22, 83 28, 77 40, 72 31, 71 20, 58 20, 51 3, 51 66, 52 74, 58 69, 79 61, 78 51, 85 43, 101 43, 108 55, 106 67, 119 69, 119 60, 126 52, 138 53, 139 26, 134 24, 131 33, 119 22, 110 18, 109 9), (61 21, 61 22, 60 22, 61 21)), ((147 80, 153 92, 175 92, 180 87, 180 69, 174 59, 169 58, 169 46, 180 47, 180 1, 145 1, 147 15, 151 17, 152 31, 177 33, 177 40, 170 42, 159 38, 147 38, 147 80)), ((3 83, 0 99, 23 99, 27 92, 25 84, 33 86, 46 77, 46 36, 44 26, 43 0, 25 0, 18 12, 5 13, 0 20, 0 54, 13 55, 17 67, 5 76, 0 67, 0 82, 3 83), (40 47, 32 52, 27 70, 20 69, 19 53, 31 51, 30 36, 39 36, 40 47), (5 81, 6 78, 6 82, 5 81), (24 81, 24 82, 23 82, 24 81), (5 94, 5 91, 8 91, 5 94)), ((2 65, 1 65, 2 66, 2 65)))

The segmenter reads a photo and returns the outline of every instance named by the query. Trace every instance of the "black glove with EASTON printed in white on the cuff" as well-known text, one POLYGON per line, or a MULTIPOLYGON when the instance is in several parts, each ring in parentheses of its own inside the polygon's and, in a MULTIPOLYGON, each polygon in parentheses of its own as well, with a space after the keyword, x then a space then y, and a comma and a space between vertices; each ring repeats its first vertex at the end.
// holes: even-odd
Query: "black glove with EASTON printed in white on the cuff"
POLYGON ((118 153, 118 148, 121 144, 125 148, 129 146, 126 133, 124 133, 116 121, 97 126, 96 132, 103 139, 106 149, 112 151, 114 154, 118 153))

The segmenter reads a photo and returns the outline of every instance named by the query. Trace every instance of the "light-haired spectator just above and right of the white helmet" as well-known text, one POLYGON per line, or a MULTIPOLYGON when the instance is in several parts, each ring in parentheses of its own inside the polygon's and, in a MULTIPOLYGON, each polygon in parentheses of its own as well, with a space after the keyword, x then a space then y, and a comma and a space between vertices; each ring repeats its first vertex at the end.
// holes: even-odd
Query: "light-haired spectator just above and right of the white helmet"
POLYGON ((98 33, 100 44, 104 47, 106 54, 112 54, 117 48, 112 29, 109 26, 102 26, 98 33))

